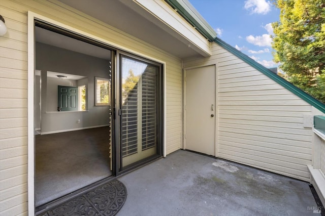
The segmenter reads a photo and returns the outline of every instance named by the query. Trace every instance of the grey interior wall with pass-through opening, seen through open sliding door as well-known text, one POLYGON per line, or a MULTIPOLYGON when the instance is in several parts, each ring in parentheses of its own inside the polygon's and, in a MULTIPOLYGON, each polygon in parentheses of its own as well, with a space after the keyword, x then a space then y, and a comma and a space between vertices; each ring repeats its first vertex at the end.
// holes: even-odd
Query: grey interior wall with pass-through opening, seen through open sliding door
POLYGON ((94 105, 95 76, 109 78, 109 60, 36 43, 36 68, 41 70, 41 134, 109 124, 109 106, 94 105), (87 111, 57 112, 57 85, 77 86, 76 80, 48 77, 47 71, 86 76, 87 111), (80 120, 80 122, 79 122, 80 120))

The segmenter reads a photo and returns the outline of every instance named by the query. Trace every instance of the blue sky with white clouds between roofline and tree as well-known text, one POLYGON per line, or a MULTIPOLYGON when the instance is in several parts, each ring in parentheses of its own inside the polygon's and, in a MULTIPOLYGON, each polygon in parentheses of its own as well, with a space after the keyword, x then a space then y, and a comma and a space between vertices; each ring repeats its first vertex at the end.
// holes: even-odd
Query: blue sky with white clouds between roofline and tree
POLYGON ((267 68, 272 61, 270 34, 280 10, 267 0, 188 0, 218 37, 267 68))

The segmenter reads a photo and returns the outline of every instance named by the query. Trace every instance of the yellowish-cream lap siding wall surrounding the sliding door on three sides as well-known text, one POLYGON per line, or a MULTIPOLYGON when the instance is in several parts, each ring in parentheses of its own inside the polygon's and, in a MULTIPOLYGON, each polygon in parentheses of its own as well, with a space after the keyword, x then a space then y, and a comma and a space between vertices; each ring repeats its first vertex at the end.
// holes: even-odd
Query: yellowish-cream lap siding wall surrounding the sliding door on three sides
POLYGON ((27 11, 166 62, 167 153, 181 147, 181 61, 56 1, 0 1, 0 214, 27 214, 27 11))

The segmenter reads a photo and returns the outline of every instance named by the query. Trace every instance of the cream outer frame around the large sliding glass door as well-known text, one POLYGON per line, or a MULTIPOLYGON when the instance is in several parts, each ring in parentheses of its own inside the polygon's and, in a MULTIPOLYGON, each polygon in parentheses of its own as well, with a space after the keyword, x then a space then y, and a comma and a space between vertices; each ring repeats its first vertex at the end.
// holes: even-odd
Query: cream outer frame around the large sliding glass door
MULTIPOLYGON (((119 44, 115 44, 113 41, 95 36, 78 28, 63 24, 51 18, 45 17, 43 15, 37 14, 32 11, 27 12, 27 197, 28 197, 28 215, 35 214, 35 188, 34 188, 34 178, 35 178, 35 112, 34 112, 34 101, 35 101, 35 20, 45 22, 49 25, 67 30, 69 32, 78 34, 80 36, 89 38, 90 40, 98 41, 99 44, 103 44, 107 47, 111 47, 116 50, 125 51, 129 54, 133 54, 148 60, 155 61, 163 65, 163 80, 162 80, 162 89, 163 89, 163 134, 162 139, 162 148, 163 156, 166 157, 166 62, 160 59, 153 58, 144 53, 129 49, 119 44)), ((116 67, 116 57, 114 59, 112 56, 112 68, 114 68, 114 73, 112 71, 112 79, 116 77, 117 67, 116 67)), ((113 79, 112 82, 115 82, 116 79, 113 79)), ((112 88, 112 99, 116 99, 117 91, 112 88)), ((114 104, 114 103, 113 103, 114 104)), ((115 103, 116 104, 116 103, 115 103)), ((113 109, 113 106, 112 106, 113 109)), ((113 117, 113 116, 112 116, 113 117)), ((113 119, 112 119, 113 121, 113 119)), ((118 125, 116 125, 118 126, 118 125)), ((113 134, 112 131, 112 150, 115 143, 113 143, 113 134)), ((112 160, 117 161, 117 151, 115 148, 115 154, 112 154, 112 160)), ((117 163, 115 163, 117 164, 117 163)), ((118 170, 115 173, 118 175, 118 170)))

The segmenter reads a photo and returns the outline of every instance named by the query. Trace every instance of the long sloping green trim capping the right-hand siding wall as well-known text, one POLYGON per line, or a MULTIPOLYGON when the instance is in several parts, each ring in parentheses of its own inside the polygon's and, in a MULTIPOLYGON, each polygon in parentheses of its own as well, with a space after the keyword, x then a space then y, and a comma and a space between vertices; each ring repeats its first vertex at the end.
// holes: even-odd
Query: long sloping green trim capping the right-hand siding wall
POLYGON ((223 47, 224 49, 228 50, 238 58, 242 59, 244 62, 249 64, 250 66, 254 67, 258 71, 262 72, 269 78, 273 79, 276 81, 278 84, 282 85, 285 89, 289 90, 290 92, 294 93, 310 105, 314 106, 316 109, 320 110, 321 112, 325 113, 325 104, 321 103, 319 100, 316 98, 310 96, 303 90, 299 89, 296 87, 294 84, 290 83, 286 79, 282 78, 281 76, 273 73, 271 70, 268 68, 264 67, 263 65, 257 63, 255 60, 251 59, 249 56, 243 54, 242 52, 238 51, 236 48, 230 46, 220 38, 215 38, 214 40, 218 45, 223 47))

